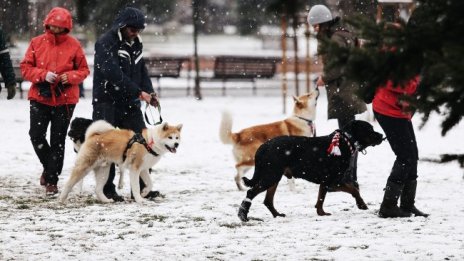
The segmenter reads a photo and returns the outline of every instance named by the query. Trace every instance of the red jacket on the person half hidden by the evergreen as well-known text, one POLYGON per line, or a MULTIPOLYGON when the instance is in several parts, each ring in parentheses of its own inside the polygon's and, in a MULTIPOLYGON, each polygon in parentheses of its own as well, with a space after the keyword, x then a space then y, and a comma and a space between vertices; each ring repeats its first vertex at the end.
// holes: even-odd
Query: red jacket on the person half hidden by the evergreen
POLYGON ((409 104, 398 98, 403 95, 413 95, 419 84, 419 76, 410 80, 405 86, 393 86, 388 81, 385 86, 379 87, 372 101, 372 109, 382 115, 410 120, 413 112, 408 111, 409 104))

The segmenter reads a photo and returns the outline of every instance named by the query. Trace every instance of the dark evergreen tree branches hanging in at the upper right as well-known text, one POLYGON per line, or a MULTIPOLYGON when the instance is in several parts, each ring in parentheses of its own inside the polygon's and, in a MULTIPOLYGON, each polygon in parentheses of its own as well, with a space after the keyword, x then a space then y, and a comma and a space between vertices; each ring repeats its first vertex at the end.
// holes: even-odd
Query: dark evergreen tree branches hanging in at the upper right
POLYGON ((419 74, 417 95, 408 100, 423 113, 424 124, 432 112, 441 114, 446 135, 464 114, 463 12, 462 0, 418 0, 400 28, 352 17, 348 22, 367 43, 351 49, 325 43, 324 52, 337 57, 325 66, 346 65, 345 77, 359 83, 361 98, 389 79, 401 84, 419 74))

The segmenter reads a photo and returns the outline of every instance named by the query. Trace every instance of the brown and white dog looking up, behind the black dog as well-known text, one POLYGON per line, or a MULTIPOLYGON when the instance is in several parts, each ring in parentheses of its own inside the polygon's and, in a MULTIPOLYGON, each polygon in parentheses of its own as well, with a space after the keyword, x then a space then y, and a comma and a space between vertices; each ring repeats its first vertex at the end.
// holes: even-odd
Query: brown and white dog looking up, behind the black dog
MULTIPOLYGON (((219 137, 224 144, 232 144, 235 158, 235 183, 239 190, 244 190, 242 177, 255 165, 255 153, 264 142, 282 135, 314 137, 316 134, 316 103, 318 90, 301 96, 293 96, 293 114, 282 121, 256 125, 239 132, 232 132, 232 117, 224 112, 222 115, 219 137)), ((289 180, 290 181, 290 180, 289 180)), ((290 183, 293 185, 293 181, 290 183)))

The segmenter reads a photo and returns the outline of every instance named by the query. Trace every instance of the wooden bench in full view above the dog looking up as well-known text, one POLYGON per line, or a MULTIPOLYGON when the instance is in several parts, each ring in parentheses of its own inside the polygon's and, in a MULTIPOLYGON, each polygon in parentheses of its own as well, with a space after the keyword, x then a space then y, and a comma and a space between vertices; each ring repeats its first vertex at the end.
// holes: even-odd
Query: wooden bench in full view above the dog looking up
POLYGON ((226 94, 226 81, 251 81, 253 95, 256 95, 256 79, 272 78, 276 73, 279 57, 217 56, 214 61, 214 75, 211 79, 222 80, 222 95, 226 94))

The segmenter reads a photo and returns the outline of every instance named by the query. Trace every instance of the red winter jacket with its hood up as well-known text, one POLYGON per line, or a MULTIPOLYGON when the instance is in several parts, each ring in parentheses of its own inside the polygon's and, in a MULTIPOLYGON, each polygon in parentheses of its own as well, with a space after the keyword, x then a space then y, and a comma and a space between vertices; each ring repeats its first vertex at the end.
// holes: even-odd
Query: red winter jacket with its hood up
POLYGON ((55 7, 44 21, 45 33, 34 37, 21 61, 21 74, 25 80, 32 82, 28 99, 49 106, 76 104, 79 101, 79 84, 89 75, 89 67, 84 51, 75 38, 69 35, 72 29, 72 17, 68 10, 55 7), (65 28, 64 34, 55 35, 49 26, 65 28), (50 84, 51 97, 43 97, 39 93, 37 83, 44 82, 47 72, 58 75, 67 74, 69 84, 65 85, 60 95, 57 82, 50 84))

